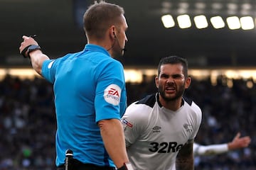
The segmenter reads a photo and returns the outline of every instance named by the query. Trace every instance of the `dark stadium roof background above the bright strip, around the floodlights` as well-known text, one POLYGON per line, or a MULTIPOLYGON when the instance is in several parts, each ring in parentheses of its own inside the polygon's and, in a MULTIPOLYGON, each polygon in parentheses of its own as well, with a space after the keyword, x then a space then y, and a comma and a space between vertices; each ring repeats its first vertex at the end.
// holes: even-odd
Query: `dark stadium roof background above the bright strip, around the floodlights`
MULTIPOLYGON (((161 57, 179 55, 189 60, 191 67, 254 67, 255 28, 252 30, 214 29, 210 17, 220 15, 252 16, 255 18, 254 0, 129 0, 113 1, 124 7, 129 29, 127 52, 119 60, 127 67, 156 66, 161 57), (182 4, 187 3, 187 8, 182 4), (205 8, 196 7, 204 4, 205 8), (213 8, 215 4, 221 6, 213 8), (235 5, 231 10, 228 6, 235 5), (248 7, 249 6, 249 7, 248 7), (198 30, 177 26, 166 29, 161 15, 174 16, 186 10, 193 19, 198 14, 208 18, 208 28, 198 30), (231 10, 231 12, 230 12, 231 10)), ((82 14, 93 1, 73 0, 0 0, 0 67, 29 67, 18 55, 22 35, 36 34, 43 52, 51 58, 67 52, 82 50, 86 44, 80 22, 82 14)))

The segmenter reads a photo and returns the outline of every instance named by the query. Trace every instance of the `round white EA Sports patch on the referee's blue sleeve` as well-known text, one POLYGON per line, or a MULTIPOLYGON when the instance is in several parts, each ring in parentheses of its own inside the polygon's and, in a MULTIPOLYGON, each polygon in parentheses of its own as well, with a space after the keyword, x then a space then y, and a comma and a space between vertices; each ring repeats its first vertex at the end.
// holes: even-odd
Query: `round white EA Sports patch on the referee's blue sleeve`
POLYGON ((111 103, 114 106, 119 105, 121 96, 121 89, 117 84, 110 84, 104 91, 104 98, 107 103, 111 103))

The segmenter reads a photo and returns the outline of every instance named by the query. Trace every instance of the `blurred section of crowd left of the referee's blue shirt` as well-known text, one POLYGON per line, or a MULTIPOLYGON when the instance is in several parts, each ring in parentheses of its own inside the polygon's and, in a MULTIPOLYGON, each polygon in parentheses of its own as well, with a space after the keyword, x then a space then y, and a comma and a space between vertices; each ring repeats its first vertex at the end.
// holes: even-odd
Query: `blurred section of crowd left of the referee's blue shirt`
POLYGON ((51 85, 7 75, 0 89, 0 169, 55 169, 51 85))

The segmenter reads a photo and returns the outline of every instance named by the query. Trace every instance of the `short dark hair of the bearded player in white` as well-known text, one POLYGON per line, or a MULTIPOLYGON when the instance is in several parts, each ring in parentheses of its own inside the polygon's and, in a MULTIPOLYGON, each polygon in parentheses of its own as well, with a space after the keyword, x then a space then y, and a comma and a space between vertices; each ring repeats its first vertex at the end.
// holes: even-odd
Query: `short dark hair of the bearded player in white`
POLYGON ((163 64, 181 64, 183 66, 183 74, 188 77, 188 61, 183 57, 169 56, 161 58, 158 66, 158 74, 161 72, 161 65, 163 64))

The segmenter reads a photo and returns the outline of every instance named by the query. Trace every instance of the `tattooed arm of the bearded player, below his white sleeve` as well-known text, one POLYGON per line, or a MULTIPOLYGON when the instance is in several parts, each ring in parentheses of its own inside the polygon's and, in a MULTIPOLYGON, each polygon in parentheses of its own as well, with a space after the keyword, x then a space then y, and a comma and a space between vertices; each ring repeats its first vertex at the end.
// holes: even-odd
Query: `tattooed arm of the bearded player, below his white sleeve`
POLYGON ((176 170, 193 170, 193 142, 183 145, 176 157, 176 170))

